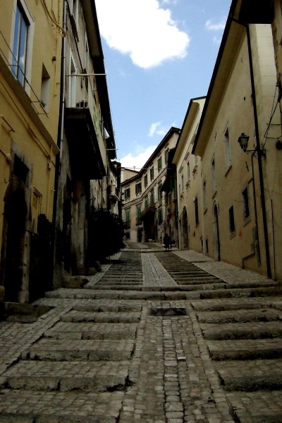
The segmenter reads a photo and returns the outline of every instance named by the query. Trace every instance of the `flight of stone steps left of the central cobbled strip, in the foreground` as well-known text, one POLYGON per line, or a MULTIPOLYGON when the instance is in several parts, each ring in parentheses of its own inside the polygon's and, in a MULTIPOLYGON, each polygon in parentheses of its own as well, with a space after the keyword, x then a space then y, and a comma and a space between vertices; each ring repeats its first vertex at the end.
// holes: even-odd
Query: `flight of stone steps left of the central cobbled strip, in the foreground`
POLYGON ((116 422, 140 313, 74 305, 1 375, 0 422, 116 422))

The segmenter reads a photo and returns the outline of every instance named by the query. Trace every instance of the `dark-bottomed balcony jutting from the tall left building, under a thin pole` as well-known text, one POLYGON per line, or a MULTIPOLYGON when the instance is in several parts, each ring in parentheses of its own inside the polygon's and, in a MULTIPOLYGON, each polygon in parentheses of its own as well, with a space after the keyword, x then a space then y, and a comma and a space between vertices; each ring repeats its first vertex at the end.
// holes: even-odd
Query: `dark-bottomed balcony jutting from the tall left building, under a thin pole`
POLYGON ((105 152, 101 151, 97 136, 99 121, 95 116, 93 77, 71 75, 68 79, 69 107, 65 111, 65 125, 73 165, 78 168, 78 174, 86 178, 102 179, 106 176, 102 157, 105 152))

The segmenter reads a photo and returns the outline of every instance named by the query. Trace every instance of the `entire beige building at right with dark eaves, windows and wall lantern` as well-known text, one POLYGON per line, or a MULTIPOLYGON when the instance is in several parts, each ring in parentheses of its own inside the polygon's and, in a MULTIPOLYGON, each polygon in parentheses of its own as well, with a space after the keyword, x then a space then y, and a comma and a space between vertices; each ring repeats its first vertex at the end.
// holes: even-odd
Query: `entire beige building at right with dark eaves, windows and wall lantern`
POLYGON ((276 82, 270 14, 233 1, 192 148, 202 159, 203 251, 281 278, 276 82))

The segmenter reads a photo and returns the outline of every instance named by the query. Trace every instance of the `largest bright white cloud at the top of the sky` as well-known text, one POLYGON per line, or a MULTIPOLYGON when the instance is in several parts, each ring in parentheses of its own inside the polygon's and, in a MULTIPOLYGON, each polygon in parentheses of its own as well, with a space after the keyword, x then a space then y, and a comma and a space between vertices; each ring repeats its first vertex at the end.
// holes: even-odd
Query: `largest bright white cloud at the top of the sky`
POLYGON ((186 56, 189 37, 159 0, 96 0, 96 6, 102 37, 135 65, 151 68, 186 56))

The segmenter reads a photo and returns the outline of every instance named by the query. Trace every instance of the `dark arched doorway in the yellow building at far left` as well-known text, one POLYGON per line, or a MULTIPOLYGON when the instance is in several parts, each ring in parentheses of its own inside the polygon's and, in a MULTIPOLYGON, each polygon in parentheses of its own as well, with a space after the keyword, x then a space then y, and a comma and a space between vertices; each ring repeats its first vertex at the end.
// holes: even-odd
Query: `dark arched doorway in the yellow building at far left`
POLYGON ((23 190, 11 192, 8 209, 4 271, 5 301, 18 302, 23 282, 27 204, 23 190))

